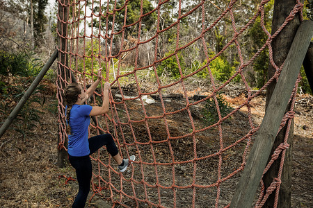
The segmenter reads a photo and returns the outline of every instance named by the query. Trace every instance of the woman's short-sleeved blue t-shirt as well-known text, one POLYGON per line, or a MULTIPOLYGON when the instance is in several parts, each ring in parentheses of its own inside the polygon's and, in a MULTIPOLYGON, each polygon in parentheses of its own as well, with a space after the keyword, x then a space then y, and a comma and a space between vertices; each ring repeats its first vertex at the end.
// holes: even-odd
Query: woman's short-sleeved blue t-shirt
POLYGON ((89 155, 88 126, 90 124, 90 105, 73 105, 70 111, 71 135, 68 135, 67 153, 81 157, 89 155))

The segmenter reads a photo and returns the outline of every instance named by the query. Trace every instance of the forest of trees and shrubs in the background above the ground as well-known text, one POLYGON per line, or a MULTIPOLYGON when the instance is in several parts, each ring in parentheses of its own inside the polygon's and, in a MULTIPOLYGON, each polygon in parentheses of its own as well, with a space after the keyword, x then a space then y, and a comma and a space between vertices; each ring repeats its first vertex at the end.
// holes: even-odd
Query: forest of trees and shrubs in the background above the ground
MULTIPOLYGON (((53 0, 51 0, 54 2, 53 0)), ((56 12, 58 5, 54 2, 51 5, 51 1, 48 0, 20 0, 20 1, 1 1, 0 3, 0 74, 8 76, 29 76, 34 78, 40 71, 41 67, 47 59, 50 57, 51 53, 56 48, 56 12)), ((225 1, 227 2, 227 1, 225 1)), ((224 10, 223 7, 227 5, 224 1, 213 1, 215 9, 224 10)), ((99 12, 99 7, 92 8, 90 1, 87 1, 87 8, 89 12, 93 9, 94 12, 99 12)), ((138 19, 140 15, 140 0, 134 0, 129 3, 129 8, 127 11, 127 23, 134 22, 135 19, 138 19)), ((189 10, 198 3, 198 1, 184 1, 182 6, 182 12, 184 10, 189 10)), ((249 0, 241 1, 241 5, 236 6, 233 10, 234 13, 239 13, 241 15, 236 16, 236 24, 240 26, 248 21, 251 18, 251 14, 255 12, 255 8, 259 6, 259 1, 249 0)), ((123 0, 117 1, 117 8, 124 4, 123 0)), ((143 1, 143 13, 148 12, 157 5, 157 1, 143 1)), ((312 5, 313 1, 305 0, 305 7, 303 10, 304 19, 312 19, 312 5)), ((177 20, 177 2, 170 1, 162 8, 161 11, 161 22, 160 29, 170 26, 173 22, 177 20)), ((264 24, 266 29, 271 32, 271 17, 273 11, 273 0, 270 3, 266 4, 266 13, 268 15, 264 19, 264 24)), ((206 21, 214 21, 217 18, 217 12, 215 10, 206 10, 207 14, 206 21)), ((193 37, 196 37, 195 31, 196 28, 201 28, 201 22, 199 19, 201 15, 197 11, 191 17, 186 17, 182 19, 182 28, 181 30, 181 44, 188 42, 188 40, 193 40, 193 37)), ((122 12, 115 17, 115 27, 117 29, 122 28, 124 21, 124 14, 122 12)), ((243 35, 241 43, 241 50, 243 54, 243 60, 249 60, 252 55, 254 55, 258 49, 266 42, 268 38, 266 33, 262 31, 262 28, 259 27, 260 18, 258 17, 255 21, 255 24, 243 35)), ((104 24, 105 21, 102 21, 104 24)), ((96 19, 93 19, 93 22, 88 23, 89 28, 86 31, 81 31, 81 33, 90 33, 91 26, 93 30, 97 28, 105 29, 105 26, 99 26, 99 22, 96 19)), ((157 15, 152 13, 149 17, 143 18, 142 21, 143 29, 141 33, 149 39, 154 35, 156 24, 157 24, 157 15)), ((127 28, 125 31, 127 37, 127 44, 132 44, 136 40, 136 34, 138 28, 130 30, 127 28)), ((226 44, 228 37, 232 37, 232 22, 230 19, 223 19, 215 28, 214 31, 211 31, 209 34, 209 40, 207 45, 209 47, 209 56, 212 57, 218 53, 223 46, 226 44)), ((176 28, 170 28, 166 33, 162 33, 159 37, 159 58, 163 58, 166 55, 169 55, 175 51, 175 41, 176 41, 176 28)), ((112 55, 118 53, 120 50, 120 39, 117 37, 114 39, 114 47, 112 49, 112 55)), ((94 54, 99 53, 97 51, 97 40, 90 40, 86 38, 86 55, 90 55, 92 52, 94 54), (91 51, 91 46, 93 43, 93 50, 91 51)), ((104 43, 103 43, 104 44, 104 43)), ((150 43, 152 44, 152 42, 150 43)), ((140 58, 141 60, 139 67, 146 66, 150 64, 152 59, 152 54, 150 55, 150 47, 152 45, 147 44, 145 49, 141 49, 141 54, 146 54, 148 57, 140 58)), ((99 47, 98 47, 99 48, 99 47)), ((181 64, 182 70, 184 71, 195 71, 203 67, 206 64, 207 59, 204 51, 200 51, 200 46, 197 47, 197 43, 192 49, 187 49, 178 54, 179 62, 181 64)), ((86 69, 91 68, 90 58, 86 58, 85 67, 86 69)), ((113 60, 113 62, 116 60, 113 60)), ((134 62, 134 55, 129 55, 124 60, 122 68, 127 70, 127 67, 131 66, 134 62)), ((79 68, 82 68, 83 62, 79 63, 79 68)), ((218 56, 211 64, 210 68, 214 75, 214 78, 220 82, 224 82, 234 73, 236 67, 239 66, 239 55, 237 53, 236 47, 230 46, 227 51, 222 55, 218 56)), ((97 63, 93 67, 98 67, 97 63)), ((123 69, 121 69, 123 70, 123 69)), ((164 60, 157 66, 158 75, 161 78, 177 78, 179 77, 179 69, 175 56, 164 60)), ((257 57, 254 64, 248 66, 248 69, 245 70, 245 75, 248 80, 248 83, 251 88, 259 89, 262 87, 267 80, 267 70, 268 70, 268 50, 262 51, 262 53, 257 57)), ((46 78, 54 81, 56 78, 56 68, 52 67, 47 73, 46 78)), ((301 76, 303 77, 299 91, 303 94, 312 94, 310 86, 307 82, 304 69, 301 69, 301 76)), ((205 81, 208 73, 202 71, 198 73, 195 79, 199 81, 205 81)), ((240 78, 237 78, 236 83, 241 83, 240 78)), ((0 83, 1 91, 6 92, 8 86, 4 86, 4 83, 0 83)))

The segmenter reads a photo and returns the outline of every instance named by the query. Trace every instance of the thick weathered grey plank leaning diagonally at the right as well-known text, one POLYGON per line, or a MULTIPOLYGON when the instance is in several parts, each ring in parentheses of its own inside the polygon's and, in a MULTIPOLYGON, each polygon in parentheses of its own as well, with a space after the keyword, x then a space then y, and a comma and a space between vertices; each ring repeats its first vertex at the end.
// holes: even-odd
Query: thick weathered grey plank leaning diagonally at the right
POLYGON ((312 36, 313 21, 303 21, 291 44, 230 207, 242 208, 252 205, 312 36))

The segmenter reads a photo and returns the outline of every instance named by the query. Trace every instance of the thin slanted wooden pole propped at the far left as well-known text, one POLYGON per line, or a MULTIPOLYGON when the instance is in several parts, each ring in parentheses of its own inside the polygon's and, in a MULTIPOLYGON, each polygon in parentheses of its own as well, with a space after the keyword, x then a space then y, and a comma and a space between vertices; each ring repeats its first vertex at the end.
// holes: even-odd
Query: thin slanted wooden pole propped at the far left
POLYGON ((16 118, 17 114, 19 111, 22 109, 22 107, 25 105, 26 101, 29 99, 33 91, 36 89, 36 87, 39 85, 40 81, 42 78, 45 76, 51 65, 54 63, 54 60, 58 57, 58 51, 54 51, 54 53, 51 55, 47 63, 45 64, 44 67, 42 67, 40 73, 38 73, 38 76, 36 76, 35 80, 33 80, 33 83, 31 83, 31 86, 29 89, 26 90, 25 94, 22 96, 22 98, 19 100, 19 103, 15 106, 13 111, 10 113, 6 121, 1 125, 0 128, 0 138, 6 132, 8 127, 11 125, 11 123, 14 121, 16 118))

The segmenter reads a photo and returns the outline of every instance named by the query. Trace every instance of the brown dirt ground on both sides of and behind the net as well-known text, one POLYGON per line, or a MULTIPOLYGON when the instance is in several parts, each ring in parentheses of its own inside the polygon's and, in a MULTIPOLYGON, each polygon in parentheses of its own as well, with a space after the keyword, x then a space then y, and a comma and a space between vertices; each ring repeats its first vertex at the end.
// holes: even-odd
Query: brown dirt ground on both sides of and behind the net
MULTIPOLYGON (((190 92, 190 94, 200 94, 200 92, 190 92)), ((74 169, 71 166, 65 168, 58 168, 56 166, 56 141, 57 141, 57 116, 55 114, 56 101, 54 96, 45 96, 47 102, 45 105, 38 105, 38 109, 42 112, 40 114, 40 123, 36 123, 37 127, 33 127, 25 133, 25 137, 20 132, 17 132, 13 127, 9 128, 5 135, 0 139, 0 207, 70 207, 72 201, 77 193, 77 182, 69 180, 69 177, 75 177, 74 169)), ((244 101, 243 94, 238 96, 225 96, 225 101, 230 103, 232 107, 240 105, 244 101)), ((154 116, 158 112, 162 111, 162 106, 157 102, 151 105, 145 105, 148 116, 154 116)), ((264 116, 264 96, 258 96, 251 103, 252 120, 255 125, 259 125, 264 116)), ((293 155, 293 172, 292 172, 292 195, 291 195, 291 207, 313 207, 313 180, 312 180, 312 137, 313 137, 313 98, 307 95, 298 95, 295 118, 294 118, 294 155, 293 155)), ((166 109, 175 111, 184 106, 184 103, 177 99, 171 99, 166 102, 166 109)), ((142 116, 142 112, 138 110, 138 103, 127 104, 130 114, 134 118, 138 119, 142 116)), ((122 107, 121 107, 122 108, 122 107)), ((237 137, 243 137, 249 130, 249 122, 247 116, 247 109, 243 108, 240 112, 236 112, 231 119, 225 121, 223 124, 223 137, 224 146, 233 142, 233 135, 237 137), (235 127, 235 128, 234 128, 235 127)), ((201 125, 201 110, 200 107, 193 107, 191 114, 195 120, 195 126, 201 125)), ((186 113, 180 112, 175 115, 169 115, 166 117, 172 137, 178 137, 182 132, 190 131, 191 127, 187 124, 186 113)), ((1 122, 6 118, 4 117, 4 110, 1 110, 1 122)), ((21 123, 22 125, 22 123, 21 123)), ((149 123, 152 137, 162 138, 164 127, 159 120, 149 123)), ((143 123, 133 125, 136 132, 136 138, 140 138, 138 142, 145 141, 147 139, 147 130, 143 123)), ((16 128, 16 126, 14 127, 16 128)), ((218 135, 218 130, 211 130, 209 132, 203 132, 198 135, 197 139, 197 153, 198 157, 214 153, 216 148, 219 148, 218 140, 215 140, 218 135), (216 141, 216 142, 214 142, 216 141), (209 145, 210 144, 210 145, 209 145)), ((193 146, 190 143, 190 139, 179 139, 177 141, 171 141, 171 146, 175 153, 175 159, 184 161, 192 157, 193 146)), ((244 145, 239 145, 236 150, 243 150, 244 145)), ((129 149, 130 151, 133 149, 129 149)), ((134 150, 135 151, 135 150, 134 150)), ((167 162, 170 159, 170 155, 163 144, 157 145, 155 148, 155 154, 158 159, 162 159, 167 162)), ((224 155, 223 162, 225 173, 229 173, 233 166, 241 163, 240 157, 235 157, 234 151, 230 151, 224 155), (228 159, 227 159, 228 158, 228 159)), ((141 157, 143 161, 152 161, 153 157, 149 148, 141 149, 141 157)), ((197 166, 197 181, 203 181, 204 184, 209 184, 216 180, 214 176, 208 175, 208 173, 215 174, 217 164, 209 164, 205 161, 200 162, 197 166), (199 175, 198 175, 199 174, 199 175)), ((193 167, 191 164, 184 164, 177 166, 176 168, 176 181, 177 185, 184 186, 184 184, 190 184, 193 177, 193 167)), ((154 174, 154 170, 145 168, 146 173, 154 174)), ((170 176, 166 176, 169 170, 166 167, 158 168, 159 184, 167 186, 170 185, 170 176), (169 178, 168 178, 169 177, 169 178)), ((134 180, 141 180, 140 168, 136 166, 134 168, 134 180), (136 175, 136 173, 138 173, 136 175)), ((126 173, 130 174, 130 173, 126 173)), ((171 173, 170 173, 171 174, 171 173)), ((127 176, 126 176, 127 177, 127 176)), ((238 179, 238 176, 235 177, 238 179)), ((115 177, 112 177, 114 180, 115 177)), ((145 180, 151 184, 155 183, 155 177, 150 177, 149 174, 145 177, 145 180)), ((235 180, 235 179, 234 179, 235 180)), ((228 182, 228 181, 227 181, 228 182)), ((220 206, 227 205, 227 202, 231 199, 231 193, 234 191, 235 182, 230 180, 228 185, 223 186, 220 195, 220 206)), ((227 183, 226 183, 227 184, 227 183)), ((136 187, 136 193, 140 198, 140 191, 142 188, 136 187)), ((147 187, 148 191, 150 190, 147 187)), ((125 188, 127 190, 127 188, 125 188)), ((206 190, 206 189, 204 189, 206 190)), ((102 191, 103 198, 110 196, 106 193, 107 190, 102 191)), ((108 191, 107 191, 108 192, 108 191)), ((214 207, 214 201, 216 198, 216 189, 208 189, 209 193, 197 190, 198 197, 196 207, 214 207)), ((144 194, 142 193, 144 197, 144 194)), ((157 202, 152 198, 153 193, 149 196, 153 202, 157 202)), ((161 198, 165 202, 163 206, 172 207, 172 192, 167 190, 162 191, 161 198), (168 202, 166 198, 169 198, 168 202)), ((177 191, 177 207, 190 207, 192 200, 192 193, 184 189, 177 191)), ((110 204, 109 204, 110 205, 110 204)), ((126 200, 125 205, 129 207, 135 207, 134 201, 126 200)), ((89 202, 87 207, 103 207, 97 205, 97 202, 93 200, 89 202)), ((116 207, 116 206, 115 206, 116 207)), ((119 207, 119 206, 117 206, 119 207)), ((145 204, 139 204, 139 207, 147 207, 145 204)))

